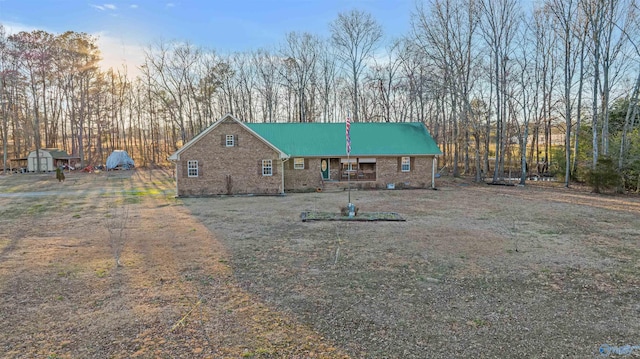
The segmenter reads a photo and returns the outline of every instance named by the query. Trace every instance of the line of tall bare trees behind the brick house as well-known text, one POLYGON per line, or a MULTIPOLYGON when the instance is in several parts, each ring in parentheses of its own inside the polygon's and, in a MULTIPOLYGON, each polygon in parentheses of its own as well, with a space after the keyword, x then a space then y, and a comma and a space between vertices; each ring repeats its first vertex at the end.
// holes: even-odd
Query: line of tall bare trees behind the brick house
MULTIPOLYGON (((421 121, 454 175, 500 181, 543 164, 584 178, 613 159, 640 175, 636 0, 426 0, 410 31, 385 41, 352 10, 330 36, 292 31, 270 48, 220 54, 156 42, 131 78, 99 67, 97 39, 74 31, 7 34, 0 25, 2 152, 43 147, 83 164, 127 150, 142 166, 217 118, 246 122, 421 121)), ((215 44, 212 44, 215 46, 215 44)), ((354 142, 357 139, 353 139, 354 142)), ((6 166, 6 165, 5 165, 6 166)), ((632 181, 628 181, 632 183, 632 181)))

